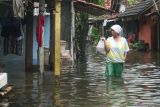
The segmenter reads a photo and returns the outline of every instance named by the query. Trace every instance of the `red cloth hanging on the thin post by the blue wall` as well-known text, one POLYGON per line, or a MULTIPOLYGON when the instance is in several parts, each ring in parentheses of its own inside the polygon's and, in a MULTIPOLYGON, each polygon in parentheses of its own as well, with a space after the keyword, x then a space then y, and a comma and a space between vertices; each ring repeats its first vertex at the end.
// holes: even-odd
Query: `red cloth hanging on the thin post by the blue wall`
POLYGON ((44 16, 39 15, 38 16, 37 29, 36 29, 36 39, 37 39, 39 47, 42 47, 43 27, 44 27, 44 16))

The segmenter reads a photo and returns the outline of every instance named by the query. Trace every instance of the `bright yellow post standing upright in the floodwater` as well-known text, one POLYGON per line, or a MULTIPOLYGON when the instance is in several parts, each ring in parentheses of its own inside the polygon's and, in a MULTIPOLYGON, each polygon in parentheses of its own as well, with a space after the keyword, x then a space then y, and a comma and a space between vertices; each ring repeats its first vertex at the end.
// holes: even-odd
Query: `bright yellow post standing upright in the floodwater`
POLYGON ((60 76, 61 0, 50 0, 50 69, 60 76))

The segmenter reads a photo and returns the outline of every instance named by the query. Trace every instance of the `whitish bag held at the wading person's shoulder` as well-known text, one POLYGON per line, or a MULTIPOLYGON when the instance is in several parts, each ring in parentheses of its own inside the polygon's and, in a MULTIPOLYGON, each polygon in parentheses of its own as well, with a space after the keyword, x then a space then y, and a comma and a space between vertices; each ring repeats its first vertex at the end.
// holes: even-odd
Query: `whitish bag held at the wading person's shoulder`
POLYGON ((106 55, 106 51, 105 51, 105 44, 104 41, 102 39, 99 40, 97 46, 96 46, 96 51, 102 55, 106 55))

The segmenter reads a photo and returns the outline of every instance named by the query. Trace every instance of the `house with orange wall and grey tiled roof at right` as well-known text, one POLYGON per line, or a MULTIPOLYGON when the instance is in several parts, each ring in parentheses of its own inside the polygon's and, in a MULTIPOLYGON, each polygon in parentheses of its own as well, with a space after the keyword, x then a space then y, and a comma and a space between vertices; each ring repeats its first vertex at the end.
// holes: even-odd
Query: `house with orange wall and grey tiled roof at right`
POLYGON ((143 41, 147 50, 159 51, 159 8, 160 0, 145 0, 136 6, 129 7, 119 14, 119 19, 123 22, 126 35, 132 33, 137 40, 143 41))

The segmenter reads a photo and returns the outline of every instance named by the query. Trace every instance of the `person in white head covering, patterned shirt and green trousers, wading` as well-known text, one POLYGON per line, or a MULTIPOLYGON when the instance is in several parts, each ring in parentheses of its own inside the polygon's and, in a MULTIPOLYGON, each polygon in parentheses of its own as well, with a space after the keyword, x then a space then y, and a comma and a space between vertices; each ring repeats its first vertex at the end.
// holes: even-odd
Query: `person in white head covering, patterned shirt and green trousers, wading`
POLYGON ((127 40, 122 37, 120 25, 111 27, 111 37, 107 40, 102 38, 106 49, 106 70, 105 77, 121 77, 124 69, 124 62, 129 51, 127 40))

